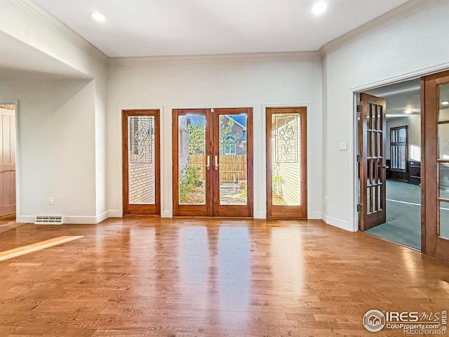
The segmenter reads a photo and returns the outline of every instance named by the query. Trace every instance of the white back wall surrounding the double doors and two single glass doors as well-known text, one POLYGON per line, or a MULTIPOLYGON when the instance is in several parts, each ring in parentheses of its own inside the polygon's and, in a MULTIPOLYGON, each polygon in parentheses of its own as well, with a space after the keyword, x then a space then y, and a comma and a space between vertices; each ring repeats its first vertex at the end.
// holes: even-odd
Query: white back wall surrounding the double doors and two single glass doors
POLYGON ((121 110, 161 108, 161 215, 172 216, 171 110, 253 107, 254 214, 266 216, 264 107, 307 106, 309 218, 321 218, 320 60, 205 60, 109 67, 107 205, 121 214, 121 110))

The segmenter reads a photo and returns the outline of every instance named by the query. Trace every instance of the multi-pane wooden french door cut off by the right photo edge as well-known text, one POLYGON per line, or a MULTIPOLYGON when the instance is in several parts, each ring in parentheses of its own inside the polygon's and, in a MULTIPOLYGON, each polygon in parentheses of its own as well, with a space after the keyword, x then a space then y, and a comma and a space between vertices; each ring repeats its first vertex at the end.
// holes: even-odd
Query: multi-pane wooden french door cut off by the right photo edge
POLYGON ((449 260, 449 72, 421 79, 422 251, 449 260))

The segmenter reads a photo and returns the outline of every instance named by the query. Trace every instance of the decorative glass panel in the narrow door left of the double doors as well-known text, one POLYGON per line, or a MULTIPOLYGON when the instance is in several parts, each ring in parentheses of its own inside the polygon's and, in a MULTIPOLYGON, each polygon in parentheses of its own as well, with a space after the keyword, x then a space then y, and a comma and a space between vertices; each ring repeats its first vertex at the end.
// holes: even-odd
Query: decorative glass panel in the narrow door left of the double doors
POLYGON ((128 134, 129 204, 154 204, 154 117, 128 117, 128 134))

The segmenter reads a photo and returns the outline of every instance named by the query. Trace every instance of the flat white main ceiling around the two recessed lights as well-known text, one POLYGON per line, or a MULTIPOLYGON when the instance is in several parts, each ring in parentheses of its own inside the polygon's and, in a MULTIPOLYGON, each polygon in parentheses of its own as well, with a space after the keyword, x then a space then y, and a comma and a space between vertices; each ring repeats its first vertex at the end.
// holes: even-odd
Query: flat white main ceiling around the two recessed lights
POLYGON ((34 0, 109 57, 318 51, 406 0, 34 0), (318 1, 327 11, 311 13, 318 1), (89 13, 106 16, 94 21, 89 13))

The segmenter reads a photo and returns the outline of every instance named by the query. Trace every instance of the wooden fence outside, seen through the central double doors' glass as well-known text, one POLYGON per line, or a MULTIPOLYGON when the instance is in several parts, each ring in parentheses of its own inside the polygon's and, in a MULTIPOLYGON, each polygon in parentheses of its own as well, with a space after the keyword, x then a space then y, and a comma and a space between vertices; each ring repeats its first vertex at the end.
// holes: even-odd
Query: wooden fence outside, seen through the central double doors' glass
MULTIPOLYGON (((191 154, 190 166, 199 167, 201 178, 204 180, 206 172, 206 159, 204 154, 191 154)), ((213 170, 213 158, 210 158, 210 169, 213 170)), ((246 180, 246 154, 222 154, 220 155, 220 180, 227 183, 238 183, 246 180)))

